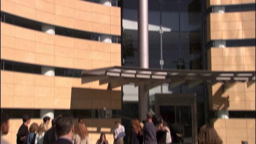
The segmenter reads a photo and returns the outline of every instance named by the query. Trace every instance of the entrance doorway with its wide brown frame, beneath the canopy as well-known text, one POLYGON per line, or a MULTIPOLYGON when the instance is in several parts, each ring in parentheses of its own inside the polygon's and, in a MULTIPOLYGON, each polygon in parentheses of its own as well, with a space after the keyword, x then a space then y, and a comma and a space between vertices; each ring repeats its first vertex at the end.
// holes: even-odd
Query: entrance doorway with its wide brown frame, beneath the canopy
MULTIPOLYGON (((161 116, 166 121, 171 131, 174 129, 182 131, 184 143, 198 143, 196 96, 194 94, 156 94, 155 112, 157 117, 161 116)), ((175 135, 173 141, 175 141, 175 135)))

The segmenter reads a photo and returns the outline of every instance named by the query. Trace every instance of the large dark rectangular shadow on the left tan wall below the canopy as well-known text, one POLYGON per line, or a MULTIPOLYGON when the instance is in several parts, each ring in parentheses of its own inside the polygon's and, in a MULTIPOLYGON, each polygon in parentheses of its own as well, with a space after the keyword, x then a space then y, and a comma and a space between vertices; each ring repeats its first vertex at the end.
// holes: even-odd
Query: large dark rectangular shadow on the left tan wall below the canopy
POLYGON ((121 121, 121 118, 99 117, 99 114, 103 114, 98 110, 105 107, 108 112, 111 111, 111 95, 114 97, 115 92, 117 91, 72 87, 70 110, 75 117, 75 124, 78 124, 78 118, 82 117, 90 133, 112 133, 114 122, 121 121))

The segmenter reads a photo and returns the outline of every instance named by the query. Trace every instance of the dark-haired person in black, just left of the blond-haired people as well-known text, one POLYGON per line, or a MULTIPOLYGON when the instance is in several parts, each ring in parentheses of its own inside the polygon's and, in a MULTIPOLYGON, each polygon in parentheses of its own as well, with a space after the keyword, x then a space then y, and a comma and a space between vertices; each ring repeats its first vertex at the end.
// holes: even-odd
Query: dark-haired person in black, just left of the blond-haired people
POLYGON ((30 123, 30 116, 28 114, 24 114, 22 117, 22 125, 18 129, 17 133, 17 144, 23 144, 25 142, 26 135, 28 134, 28 124, 30 123))

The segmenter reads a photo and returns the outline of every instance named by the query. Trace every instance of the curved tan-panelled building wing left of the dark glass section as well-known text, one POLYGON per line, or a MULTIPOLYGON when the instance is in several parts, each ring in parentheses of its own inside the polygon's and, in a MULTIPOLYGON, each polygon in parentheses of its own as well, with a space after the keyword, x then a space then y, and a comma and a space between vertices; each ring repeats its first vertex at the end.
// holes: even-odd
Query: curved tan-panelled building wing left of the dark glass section
MULTIPOLYGON (((1 0, 1 111, 16 143, 22 115, 33 122, 71 113, 84 118, 90 142, 120 118, 121 88, 81 84, 81 70, 121 65, 117 1, 1 0)), ((31 124, 30 123, 30 124, 31 124)))

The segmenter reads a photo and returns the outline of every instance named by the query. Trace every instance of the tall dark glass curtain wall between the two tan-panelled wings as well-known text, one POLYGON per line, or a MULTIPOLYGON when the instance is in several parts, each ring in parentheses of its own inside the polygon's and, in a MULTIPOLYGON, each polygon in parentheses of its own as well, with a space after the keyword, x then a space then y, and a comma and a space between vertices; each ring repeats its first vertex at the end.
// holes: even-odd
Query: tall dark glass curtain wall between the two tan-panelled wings
MULTIPOLYGON (((137 0, 122 1, 122 65, 139 66, 137 0)), ((203 69, 202 1, 148 0, 149 68, 203 69)), ((204 85, 169 84, 149 91, 149 108, 154 111, 155 93, 196 93, 198 127, 204 124, 204 85)), ((138 117, 138 87, 123 86, 123 120, 138 117), (133 113, 127 113, 131 111, 133 113)))

